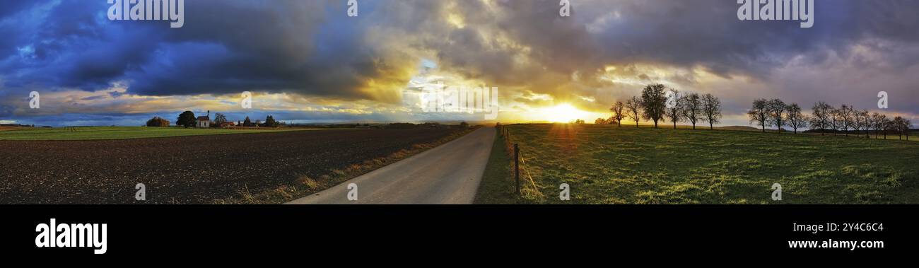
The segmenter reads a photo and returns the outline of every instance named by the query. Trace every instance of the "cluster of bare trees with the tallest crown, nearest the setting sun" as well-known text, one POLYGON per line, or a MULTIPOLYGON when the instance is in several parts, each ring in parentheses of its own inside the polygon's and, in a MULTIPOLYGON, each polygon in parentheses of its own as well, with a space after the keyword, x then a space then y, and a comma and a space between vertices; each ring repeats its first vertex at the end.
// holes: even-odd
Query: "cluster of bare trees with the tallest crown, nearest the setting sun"
POLYGON ((664 84, 649 84, 641 90, 641 96, 632 96, 626 102, 617 101, 609 110, 613 112, 612 117, 597 118, 595 123, 621 127, 622 119, 629 118, 635 122, 635 128, 642 119, 653 121, 654 128, 665 120, 670 120, 674 128, 679 122, 688 122, 693 129, 698 123, 708 123, 709 128, 715 128, 721 119, 721 100, 711 94, 681 94, 664 84))

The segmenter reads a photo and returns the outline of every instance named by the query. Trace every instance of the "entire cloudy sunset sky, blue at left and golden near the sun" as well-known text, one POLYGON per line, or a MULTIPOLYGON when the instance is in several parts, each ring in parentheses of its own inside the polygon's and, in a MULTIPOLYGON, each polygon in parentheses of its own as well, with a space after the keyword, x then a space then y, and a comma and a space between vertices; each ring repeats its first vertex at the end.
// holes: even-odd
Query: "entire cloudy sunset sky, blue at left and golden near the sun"
POLYGON ((720 97, 722 126, 750 125, 756 98, 919 121, 919 1, 816 0, 811 28, 739 20, 733 0, 347 2, 186 0, 171 28, 109 20, 106 0, 0 1, 0 123, 486 118, 425 109, 438 84, 496 88, 498 121, 593 122, 658 83, 720 97))

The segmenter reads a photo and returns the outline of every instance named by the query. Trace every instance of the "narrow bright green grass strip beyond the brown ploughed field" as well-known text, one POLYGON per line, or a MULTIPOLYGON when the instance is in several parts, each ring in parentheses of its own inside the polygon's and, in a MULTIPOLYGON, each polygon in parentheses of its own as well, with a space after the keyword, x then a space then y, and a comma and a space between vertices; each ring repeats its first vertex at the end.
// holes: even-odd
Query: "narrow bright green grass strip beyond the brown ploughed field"
POLYGON ((19 128, 0 131, 0 140, 123 140, 195 135, 241 134, 302 130, 301 128, 224 129, 224 128, 148 128, 148 127, 80 127, 19 128))

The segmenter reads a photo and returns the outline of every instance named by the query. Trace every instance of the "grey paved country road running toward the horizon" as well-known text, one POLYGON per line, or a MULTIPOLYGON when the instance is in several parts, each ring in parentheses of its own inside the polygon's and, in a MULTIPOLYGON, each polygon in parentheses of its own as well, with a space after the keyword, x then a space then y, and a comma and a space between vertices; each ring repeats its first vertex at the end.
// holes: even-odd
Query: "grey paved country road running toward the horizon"
POLYGON ((471 204, 492 153, 494 128, 471 133, 287 204, 471 204), (349 200, 357 185, 357 200, 349 200))

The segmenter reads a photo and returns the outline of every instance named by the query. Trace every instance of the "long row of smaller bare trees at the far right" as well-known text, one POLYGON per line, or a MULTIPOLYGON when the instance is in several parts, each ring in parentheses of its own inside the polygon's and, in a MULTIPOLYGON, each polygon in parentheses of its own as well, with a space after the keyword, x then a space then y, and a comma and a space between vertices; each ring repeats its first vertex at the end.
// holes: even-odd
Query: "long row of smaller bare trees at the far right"
POLYGON ((893 132, 897 133, 901 140, 903 136, 910 140, 910 126, 913 123, 903 117, 891 118, 878 112, 868 113, 868 110, 859 110, 851 105, 837 108, 825 102, 815 103, 811 110, 811 116, 808 116, 801 113, 801 108, 796 103, 787 105, 777 98, 761 98, 754 100, 747 116, 750 117, 750 123, 760 126, 763 132, 769 127, 776 127, 778 131, 782 131, 783 127, 789 127, 797 134, 800 128, 811 128, 813 132, 819 131, 820 135, 825 135, 826 132, 832 132, 834 135, 843 132, 848 136, 849 132, 855 132, 856 135, 864 133, 866 138, 870 138, 873 131, 875 139, 883 135, 885 140, 888 132, 893 132))

